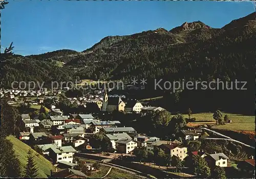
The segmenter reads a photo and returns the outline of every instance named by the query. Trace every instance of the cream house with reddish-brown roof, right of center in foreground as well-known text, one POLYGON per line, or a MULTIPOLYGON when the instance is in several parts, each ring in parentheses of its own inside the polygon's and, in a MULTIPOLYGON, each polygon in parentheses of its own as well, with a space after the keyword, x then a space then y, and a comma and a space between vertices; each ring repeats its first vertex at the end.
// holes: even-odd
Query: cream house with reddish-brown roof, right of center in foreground
POLYGON ((167 143, 167 144, 161 144, 159 146, 165 154, 170 154, 170 157, 176 156, 183 160, 185 157, 187 157, 187 147, 181 147, 178 146, 177 143, 167 143))

